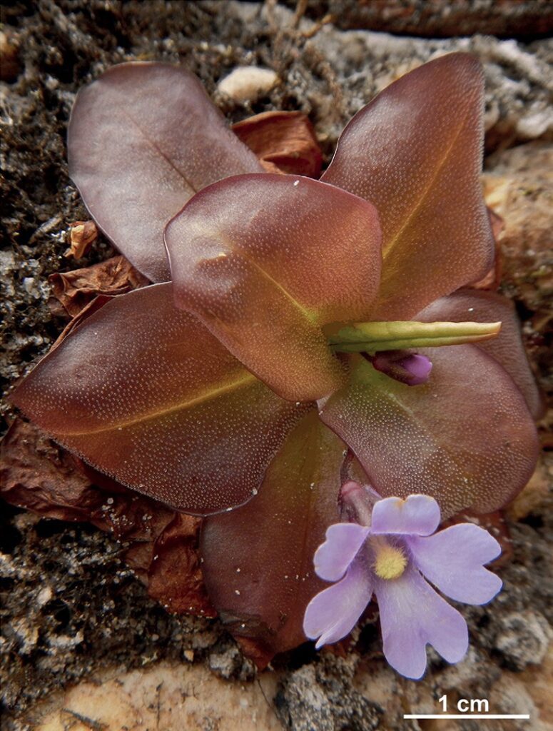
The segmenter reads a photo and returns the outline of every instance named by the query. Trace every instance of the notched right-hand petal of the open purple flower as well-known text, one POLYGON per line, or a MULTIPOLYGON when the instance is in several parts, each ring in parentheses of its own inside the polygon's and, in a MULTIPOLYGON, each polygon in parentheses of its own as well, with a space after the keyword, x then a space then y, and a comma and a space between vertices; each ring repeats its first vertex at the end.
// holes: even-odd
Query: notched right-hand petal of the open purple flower
POLYGON ((451 599, 487 604, 500 591, 500 577, 482 564, 497 558, 501 546, 483 528, 464 523, 435 536, 408 537, 407 543, 419 570, 451 599))

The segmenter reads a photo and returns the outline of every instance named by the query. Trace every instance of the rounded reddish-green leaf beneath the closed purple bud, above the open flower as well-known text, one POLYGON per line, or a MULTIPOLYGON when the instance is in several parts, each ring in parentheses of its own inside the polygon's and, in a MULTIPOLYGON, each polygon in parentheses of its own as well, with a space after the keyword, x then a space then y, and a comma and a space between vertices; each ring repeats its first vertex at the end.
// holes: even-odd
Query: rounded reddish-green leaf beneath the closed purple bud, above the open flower
POLYGON ((492 512, 532 474, 538 441, 521 393, 477 346, 427 348, 428 382, 410 387, 356 357, 351 383, 321 406, 382 496, 422 493, 442 518, 492 512))

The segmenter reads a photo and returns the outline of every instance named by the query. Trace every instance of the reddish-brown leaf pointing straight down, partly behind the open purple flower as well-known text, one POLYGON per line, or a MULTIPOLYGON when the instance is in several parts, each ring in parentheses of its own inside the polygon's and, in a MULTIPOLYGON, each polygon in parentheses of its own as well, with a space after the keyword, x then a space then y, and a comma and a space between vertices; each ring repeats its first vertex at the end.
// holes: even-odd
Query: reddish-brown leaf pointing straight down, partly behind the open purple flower
POLYGON ((271 463, 259 495, 204 521, 210 599, 230 631, 256 640, 265 655, 305 641, 305 607, 327 586, 316 577, 313 555, 339 520, 343 450, 316 413, 308 414, 271 463))

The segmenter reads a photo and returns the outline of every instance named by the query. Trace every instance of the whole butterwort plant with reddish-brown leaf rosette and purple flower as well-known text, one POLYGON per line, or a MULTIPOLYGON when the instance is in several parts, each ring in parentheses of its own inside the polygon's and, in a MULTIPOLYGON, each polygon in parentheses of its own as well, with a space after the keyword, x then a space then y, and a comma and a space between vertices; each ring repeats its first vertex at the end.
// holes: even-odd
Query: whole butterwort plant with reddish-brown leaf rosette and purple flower
MULTIPOLYGON (((470 526, 430 534, 502 507, 533 471, 540 400, 514 311, 471 287, 494 258, 483 93, 470 56, 424 64, 352 119, 321 180, 264 172, 180 67, 121 64, 77 96, 70 173, 152 284, 83 319, 13 401, 96 469, 204 516, 210 599, 265 662, 306 634, 347 634, 375 593, 386 656, 421 675, 435 635, 414 623, 410 639, 405 618, 423 575, 448 594, 438 541, 480 570, 495 555, 470 526), (352 481, 381 501, 344 518, 352 481), (420 500, 432 530, 405 518, 394 531, 389 506, 420 500), (367 549, 344 553, 345 531, 367 549), (313 556, 332 552, 344 575, 365 567, 355 609, 321 599, 342 576, 313 556), (313 625, 314 606, 340 632, 313 625), (393 659, 405 643, 409 667, 393 659)), ((434 642, 450 662, 459 636, 434 642)))

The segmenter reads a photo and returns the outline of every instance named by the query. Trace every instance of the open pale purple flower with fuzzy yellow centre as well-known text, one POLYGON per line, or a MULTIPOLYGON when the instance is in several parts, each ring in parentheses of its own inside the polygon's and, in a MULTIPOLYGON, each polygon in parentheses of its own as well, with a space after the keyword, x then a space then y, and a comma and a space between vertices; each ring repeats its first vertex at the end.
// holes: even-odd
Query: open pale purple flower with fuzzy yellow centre
POLYGON ((374 593, 386 660, 398 673, 418 679, 426 669, 427 644, 451 663, 468 648, 465 619, 428 581, 457 602, 486 604, 502 582, 484 564, 501 548, 472 523, 435 533, 440 508, 429 496, 373 496, 356 482, 344 485, 343 505, 357 522, 330 526, 316 550, 317 575, 337 583, 311 599, 303 629, 317 640, 316 648, 337 642, 351 632, 374 593))

